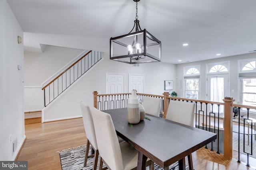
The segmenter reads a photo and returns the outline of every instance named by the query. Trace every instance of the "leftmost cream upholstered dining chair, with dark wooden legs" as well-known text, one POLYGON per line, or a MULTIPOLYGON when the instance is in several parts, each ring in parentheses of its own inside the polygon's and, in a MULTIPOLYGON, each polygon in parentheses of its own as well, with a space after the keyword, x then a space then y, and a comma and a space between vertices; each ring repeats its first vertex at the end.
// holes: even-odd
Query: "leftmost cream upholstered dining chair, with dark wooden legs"
POLYGON ((86 106, 82 101, 80 102, 80 107, 82 110, 84 129, 85 129, 85 133, 86 133, 86 137, 87 137, 84 166, 86 166, 88 158, 94 157, 93 170, 96 170, 97 163, 98 163, 99 151, 98 151, 98 145, 96 142, 92 113, 91 113, 90 107, 86 106), (94 154, 92 154, 92 155, 88 155, 90 145, 92 146, 92 149, 94 149, 94 154))

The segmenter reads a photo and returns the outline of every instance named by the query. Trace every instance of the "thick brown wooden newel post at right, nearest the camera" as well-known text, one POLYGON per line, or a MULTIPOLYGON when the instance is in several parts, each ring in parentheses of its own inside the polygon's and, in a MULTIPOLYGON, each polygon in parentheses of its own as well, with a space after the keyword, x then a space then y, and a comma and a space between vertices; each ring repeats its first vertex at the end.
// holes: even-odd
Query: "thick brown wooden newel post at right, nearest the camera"
POLYGON ((227 159, 232 159, 232 143, 233 143, 233 114, 231 109, 231 104, 233 102, 232 97, 225 97, 224 102, 224 157, 227 159))

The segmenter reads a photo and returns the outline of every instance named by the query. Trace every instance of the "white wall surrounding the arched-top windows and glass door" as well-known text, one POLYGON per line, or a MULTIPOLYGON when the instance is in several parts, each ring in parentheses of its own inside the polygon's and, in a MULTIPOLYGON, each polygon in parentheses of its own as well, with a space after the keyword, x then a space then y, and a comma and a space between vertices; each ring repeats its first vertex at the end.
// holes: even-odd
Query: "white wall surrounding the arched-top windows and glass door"
POLYGON ((201 75, 200 75, 200 100, 206 99, 206 64, 208 63, 217 63, 222 61, 230 61, 230 97, 233 97, 235 100, 239 100, 239 90, 238 90, 238 60, 241 59, 250 59, 250 58, 256 58, 256 53, 249 53, 244 55, 235 55, 231 57, 222 57, 212 60, 204 60, 204 61, 198 61, 193 63, 184 63, 184 64, 177 64, 176 66, 176 73, 177 78, 182 80, 182 88, 180 90, 177 90, 178 93, 183 94, 184 91, 184 84, 183 84, 183 67, 184 66, 194 66, 194 65, 200 65, 201 66, 201 75), (231 92, 231 90, 234 90, 234 92, 231 92))

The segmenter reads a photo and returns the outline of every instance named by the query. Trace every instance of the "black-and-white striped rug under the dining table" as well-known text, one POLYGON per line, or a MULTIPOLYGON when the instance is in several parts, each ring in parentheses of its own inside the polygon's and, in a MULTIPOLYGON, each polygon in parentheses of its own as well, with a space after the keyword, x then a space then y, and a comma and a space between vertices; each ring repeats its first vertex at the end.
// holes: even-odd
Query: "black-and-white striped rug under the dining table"
MULTIPOLYGON (((62 170, 92 170, 94 158, 88 158, 87 166, 84 166, 84 155, 85 155, 86 145, 79 147, 69 148, 62 151, 57 151, 60 154, 60 162, 62 170)), ((89 153, 91 152, 91 147, 89 148, 89 153)), ((160 166, 154 164, 154 170, 162 170, 160 166)), ((169 166, 169 170, 178 170, 178 162, 169 166)), ((149 167, 146 168, 149 170, 149 167)), ((189 167, 186 165, 186 170, 189 167)))

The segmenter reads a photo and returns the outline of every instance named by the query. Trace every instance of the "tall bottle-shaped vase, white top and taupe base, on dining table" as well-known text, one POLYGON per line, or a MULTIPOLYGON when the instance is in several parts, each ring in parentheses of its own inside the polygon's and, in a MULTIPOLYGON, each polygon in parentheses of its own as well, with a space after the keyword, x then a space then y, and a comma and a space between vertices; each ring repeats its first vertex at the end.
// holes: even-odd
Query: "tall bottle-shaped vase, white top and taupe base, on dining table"
POLYGON ((127 120, 131 124, 140 122, 140 102, 136 95, 136 90, 132 90, 130 98, 128 98, 127 120))

